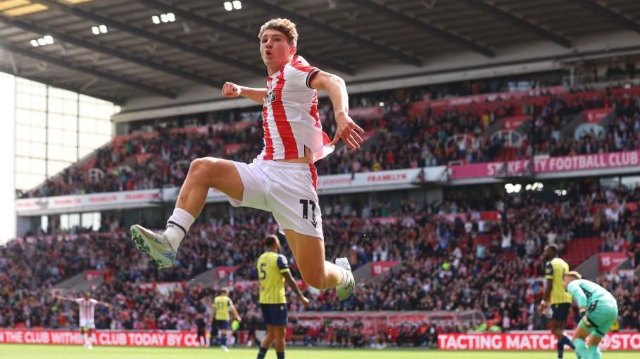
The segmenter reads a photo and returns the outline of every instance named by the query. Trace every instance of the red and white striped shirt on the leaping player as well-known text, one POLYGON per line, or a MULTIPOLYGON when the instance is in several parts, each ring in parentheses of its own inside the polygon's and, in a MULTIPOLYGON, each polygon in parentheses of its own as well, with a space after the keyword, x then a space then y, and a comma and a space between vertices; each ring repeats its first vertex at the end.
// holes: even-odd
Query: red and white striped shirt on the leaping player
POLYGON ((267 77, 263 106, 265 147, 258 159, 304 157, 304 148, 318 161, 334 150, 318 117, 318 91, 309 81, 318 72, 301 56, 294 56, 280 71, 267 77))

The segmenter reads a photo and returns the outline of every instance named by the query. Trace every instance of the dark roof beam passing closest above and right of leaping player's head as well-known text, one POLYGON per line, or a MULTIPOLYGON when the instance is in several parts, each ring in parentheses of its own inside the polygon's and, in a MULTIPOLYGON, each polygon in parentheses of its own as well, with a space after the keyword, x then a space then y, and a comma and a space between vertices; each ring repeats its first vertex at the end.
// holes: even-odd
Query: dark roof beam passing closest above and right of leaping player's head
POLYGON ((361 46, 366 46, 380 53, 387 54, 387 56, 391 56, 392 58, 402 60, 403 63, 422 66, 422 59, 420 59, 418 56, 410 55, 408 53, 405 53, 404 51, 395 50, 393 48, 390 48, 388 45, 380 44, 379 42, 360 37, 358 34, 353 34, 338 27, 334 27, 332 25, 325 24, 324 22, 314 20, 313 18, 308 18, 305 15, 301 15, 300 13, 296 13, 295 11, 288 10, 287 8, 282 8, 263 0, 244 0, 244 3, 255 6, 256 8, 260 8, 267 13, 271 13, 274 15, 277 14, 278 16, 289 18, 296 22, 315 27, 322 32, 332 34, 334 37, 345 39, 361 46))

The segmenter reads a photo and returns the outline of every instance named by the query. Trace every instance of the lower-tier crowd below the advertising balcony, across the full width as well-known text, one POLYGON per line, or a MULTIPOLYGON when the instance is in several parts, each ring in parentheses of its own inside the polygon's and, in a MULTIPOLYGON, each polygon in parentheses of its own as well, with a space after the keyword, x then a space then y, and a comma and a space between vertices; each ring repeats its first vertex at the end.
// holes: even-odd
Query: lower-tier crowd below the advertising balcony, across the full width
MULTIPOLYGON (((333 291, 305 288, 311 309, 475 310, 484 313, 487 327, 541 329, 546 317, 537 310, 537 303, 544 282, 537 278, 542 275, 544 245, 555 243, 562 251, 570 240, 600 236, 601 250, 627 252, 632 268, 640 263, 640 212, 629 206, 640 201, 638 187, 602 189, 585 182, 573 183, 567 195, 551 199, 536 191, 487 192, 484 197, 456 191, 446 198, 423 206, 406 200, 398 208, 387 204, 323 207, 327 258, 348 256, 354 268, 370 261, 401 261, 404 266, 382 280, 359 285, 346 301, 338 301, 333 291), (485 218, 483 211, 500 216, 485 218)), ((256 239, 276 230, 268 214, 237 210, 233 218, 194 226, 180 247, 175 268, 162 271, 134 249, 125 233, 14 240, 0 248, 0 327, 75 325, 73 304, 53 301, 51 290, 75 273, 95 269, 106 274, 94 296, 116 304, 113 313, 100 309, 101 327, 189 328, 196 315, 206 310, 211 287, 180 286, 162 296, 141 289, 140 283, 189 282, 217 266, 238 266, 220 283, 242 289, 232 292, 232 297, 245 318, 244 328, 255 329, 261 320, 257 292, 244 286, 257 273, 244 263, 255 263, 263 252, 256 239)), ((286 244, 283 253, 290 257, 286 244)), ((289 260, 299 278, 294 259, 289 260)), ((598 280, 617 296, 621 327, 640 328, 636 282, 632 278, 598 280)), ((293 294, 290 299, 289 310, 301 311, 293 294)), ((412 330, 419 328, 416 324, 412 330)), ((322 333, 307 339, 313 343, 338 340, 327 339, 328 328, 322 333)), ((383 338, 376 337, 376 344, 382 345, 383 338)))

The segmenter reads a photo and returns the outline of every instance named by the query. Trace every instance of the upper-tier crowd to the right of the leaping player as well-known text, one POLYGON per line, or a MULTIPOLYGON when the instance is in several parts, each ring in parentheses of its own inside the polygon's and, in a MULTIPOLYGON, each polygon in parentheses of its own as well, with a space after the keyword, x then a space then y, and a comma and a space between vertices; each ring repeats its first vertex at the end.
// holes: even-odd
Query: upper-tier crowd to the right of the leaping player
POLYGON ((365 129, 377 131, 377 138, 366 151, 329 157, 318 168, 322 174, 336 174, 640 148, 640 112, 637 112, 635 98, 614 96, 611 91, 595 98, 565 100, 561 95, 549 98, 544 105, 526 98, 522 100, 520 112, 530 115, 532 121, 518 129, 523 139, 519 147, 508 151, 508 155, 504 151, 508 147, 503 138, 484 135, 492 124, 515 112, 513 105, 484 113, 452 109, 439 115, 426 107, 425 113, 416 115, 408 112, 402 98, 398 98, 385 107, 384 121, 364 122, 365 129), (580 112, 602 107, 613 107, 616 120, 601 127, 601 131, 595 131, 598 126, 594 126, 579 138, 573 133, 563 133, 580 112), (381 123, 384 125, 380 126, 381 123), (379 143, 384 146, 376 145, 379 143))

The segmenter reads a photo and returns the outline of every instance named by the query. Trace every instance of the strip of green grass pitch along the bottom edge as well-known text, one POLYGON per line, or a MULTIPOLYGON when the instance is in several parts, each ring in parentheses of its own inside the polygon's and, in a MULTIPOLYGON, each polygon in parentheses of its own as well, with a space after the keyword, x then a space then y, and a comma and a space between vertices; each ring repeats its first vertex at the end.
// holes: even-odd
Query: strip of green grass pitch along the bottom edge
MULTIPOLYGON (((220 348, 128 348, 94 346, 0 345, 1 359, 255 359, 258 348, 231 348, 223 353, 220 348)), ((425 349, 334 349, 289 348, 287 359, 553 359, 555 351, 434 351, 425 349)), ((640 359, 633 351, 603 352, 603 359, 640 359)), ((565 358, 575 359, 571 351, 565 358)), ((275 359, 270 349, 266 359, 275 359)))

